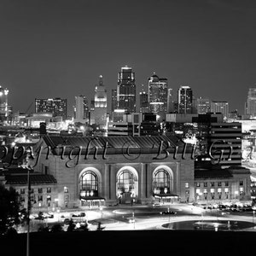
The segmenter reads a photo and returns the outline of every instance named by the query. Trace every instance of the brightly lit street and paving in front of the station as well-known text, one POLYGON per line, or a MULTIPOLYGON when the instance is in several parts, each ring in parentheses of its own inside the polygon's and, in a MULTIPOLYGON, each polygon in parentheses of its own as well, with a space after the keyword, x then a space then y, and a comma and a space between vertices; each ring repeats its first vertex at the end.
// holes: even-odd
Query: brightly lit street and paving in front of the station
MULTIPOLYGON (((81 208, 74 211, 55 212, 54 218, 38 220, 32 218, 30 230, 38 231, 40 226, 51 227, 54 224, 64 225, 64 219, 73 219, 75 224, 88 223, 89 230, 97 230, 100 223, 104 230, 160 230, 166 229, 163 224, 189 220, 216 222, 221 220, 248 222, 251 227, 246 230, 254 231, 253 212, 223 212, 218 209, 203 209, 192 204, 172 204, 161 206, 124 205, 114 207, 81 208), (175 215, 161 215, 160 212, 176 212, 175 215), (84 212, 84 217, 73 217, 74 213, 84 212)), ((67 225, 66 225, 67 229, 67 225)), ((244 230, 244 229, 243 229, 244 230)), ((26 226, 20 233, 26 232, 26 226)))

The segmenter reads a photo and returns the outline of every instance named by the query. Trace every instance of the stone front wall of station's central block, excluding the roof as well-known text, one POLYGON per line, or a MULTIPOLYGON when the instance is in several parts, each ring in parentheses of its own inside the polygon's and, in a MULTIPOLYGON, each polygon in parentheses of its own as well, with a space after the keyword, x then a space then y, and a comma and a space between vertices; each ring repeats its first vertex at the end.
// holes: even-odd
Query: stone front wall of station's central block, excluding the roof
MULTIPOLYGON (((43 139, 41 147, 46 148, 48 142, 43 139)), ((78 158, 78 154, 62 154, 58 149, 49 155, 42 150, 34 170, 55 177, 60 207, 194 201, 194 160, 189 153, 171 151, 158 154, 158 148, 133 152, 110 148, 107 154, 81 151, 78 158)))

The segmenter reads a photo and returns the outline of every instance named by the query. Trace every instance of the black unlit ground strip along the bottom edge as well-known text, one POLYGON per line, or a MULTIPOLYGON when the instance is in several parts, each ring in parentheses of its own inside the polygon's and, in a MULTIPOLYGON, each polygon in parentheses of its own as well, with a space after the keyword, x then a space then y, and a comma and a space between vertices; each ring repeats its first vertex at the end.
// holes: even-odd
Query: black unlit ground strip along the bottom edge
MULTIPOLYGON (((131 230, 31 233, 31 256, 255 255, 256 232, 131 230)), ((26 255, 26 234, 0 237, 0 255, 26 255)))

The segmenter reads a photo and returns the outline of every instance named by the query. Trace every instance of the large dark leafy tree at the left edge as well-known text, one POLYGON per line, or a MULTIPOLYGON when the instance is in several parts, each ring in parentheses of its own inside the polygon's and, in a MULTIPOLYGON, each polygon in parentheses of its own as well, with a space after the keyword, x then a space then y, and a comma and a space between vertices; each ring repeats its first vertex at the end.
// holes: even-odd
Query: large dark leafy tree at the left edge
POLYGON ((0 184, 0 234, 7 234, 16 224, 20 224, 19 194, 14 188, 5 189, 0 184))

